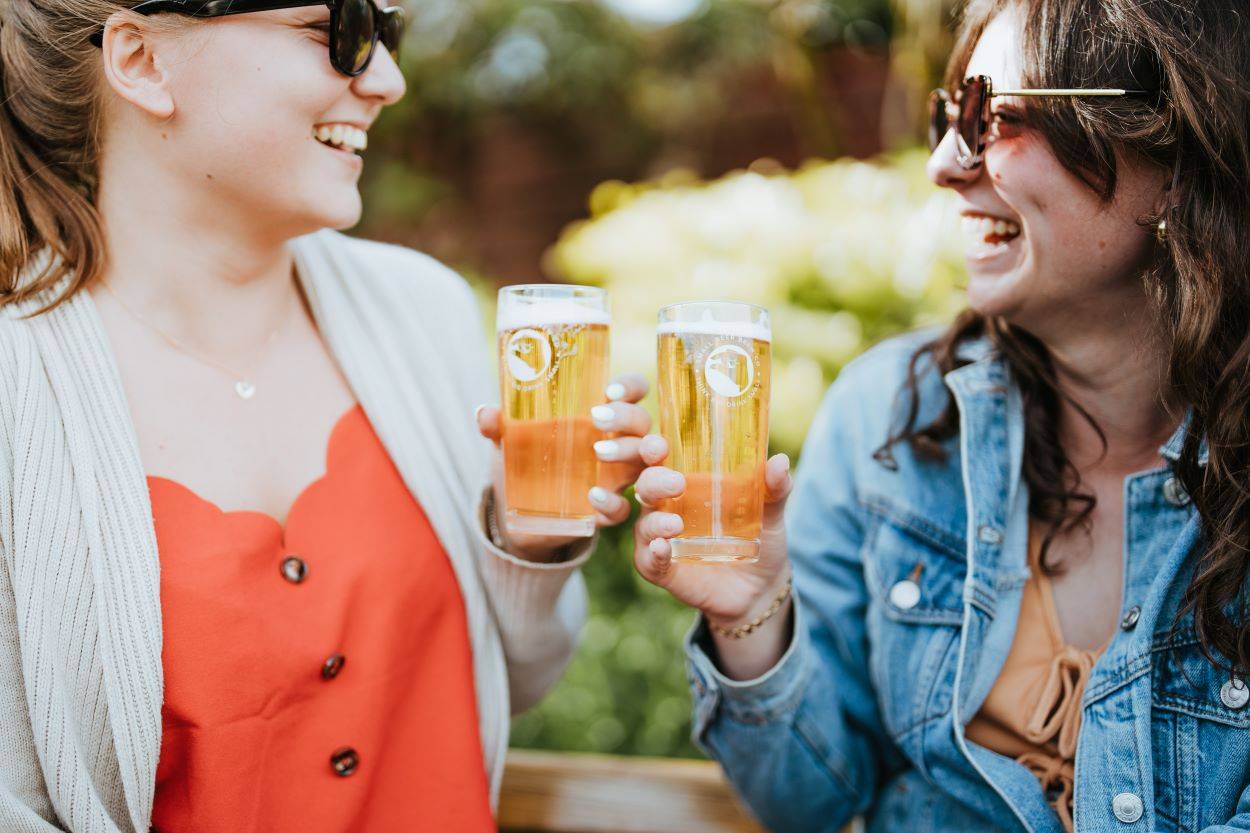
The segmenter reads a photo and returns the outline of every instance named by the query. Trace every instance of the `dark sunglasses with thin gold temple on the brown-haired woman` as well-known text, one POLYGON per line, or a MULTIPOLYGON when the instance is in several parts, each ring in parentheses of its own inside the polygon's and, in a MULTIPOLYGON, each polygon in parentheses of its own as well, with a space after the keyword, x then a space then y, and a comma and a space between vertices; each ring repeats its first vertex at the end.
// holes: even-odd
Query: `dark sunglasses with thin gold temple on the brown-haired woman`
POLYGON ((995 90, 989 75, 964 79, 951 99, 944 89, 929 94, 929 150, 936 150, 946 134, 955 130, 959 145, 959 166, 972 170, 981 164, 985 146, 992 139, 990 133, 990 99, 1000 95, 1045 96, 1098 96, 1146 95, 1149 90, 995 90))

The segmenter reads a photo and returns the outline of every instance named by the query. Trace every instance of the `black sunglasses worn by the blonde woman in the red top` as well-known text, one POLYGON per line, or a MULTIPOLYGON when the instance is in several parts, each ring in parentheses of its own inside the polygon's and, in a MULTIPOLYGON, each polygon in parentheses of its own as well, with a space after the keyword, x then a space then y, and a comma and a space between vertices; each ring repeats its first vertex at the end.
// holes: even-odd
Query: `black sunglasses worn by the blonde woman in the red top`
MULTIPOLYGON (((344 75, 355 78, 374 59, 378 41, 399 60, 399 44, 404 38, 404 10, 399 6, 379 9, 374 0, 145 0, 130 9, 140 15, 162 13, 191 18, 222 18, 250 11, 272 11, 300 6, 330 8, 330 64, 344 75)), ((91 35, 91 43, 104 43, 104 29, 91 35)))

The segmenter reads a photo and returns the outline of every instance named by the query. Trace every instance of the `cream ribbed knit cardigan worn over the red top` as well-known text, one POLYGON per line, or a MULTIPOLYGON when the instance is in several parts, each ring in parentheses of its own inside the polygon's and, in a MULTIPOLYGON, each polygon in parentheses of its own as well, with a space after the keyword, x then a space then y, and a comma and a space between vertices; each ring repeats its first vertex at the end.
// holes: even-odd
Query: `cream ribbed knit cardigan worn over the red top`
MULTIPOLYGON (((465 283, 334 231, 290 245, 322 336, 459 579, 494 802, 510 704, 532 704, 572 653, 590 547, 535 564, 481 532, 491 448, 472 409, 498 396, 465 283)), ((20 320, 35 309, 0 309, 0 830, 146 833, 162 675, 145 473, 91 296, 20 320)))

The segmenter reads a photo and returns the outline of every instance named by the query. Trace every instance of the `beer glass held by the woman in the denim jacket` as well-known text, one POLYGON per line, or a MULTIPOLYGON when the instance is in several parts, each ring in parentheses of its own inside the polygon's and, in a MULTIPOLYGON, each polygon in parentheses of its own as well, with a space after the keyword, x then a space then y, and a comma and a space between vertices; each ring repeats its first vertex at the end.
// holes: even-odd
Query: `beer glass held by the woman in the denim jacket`
POLYGON ((766 310, 694 301, 660 310, 660 433, 686 492, 671 540, 681 562, 755 562, 764 525, 772 334, 766 310))

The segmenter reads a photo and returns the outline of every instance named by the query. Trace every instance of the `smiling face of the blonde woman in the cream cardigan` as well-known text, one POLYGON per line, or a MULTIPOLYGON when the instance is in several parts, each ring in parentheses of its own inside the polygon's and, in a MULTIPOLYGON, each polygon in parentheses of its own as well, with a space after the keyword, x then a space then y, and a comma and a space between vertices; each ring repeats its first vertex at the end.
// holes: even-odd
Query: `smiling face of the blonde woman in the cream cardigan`
POLYGON ((172 115, 144 120, 150 164, 226 210, 295 235, 354 225, 365 131, 404 94, 379 45, 358 78, 328 51, 330 10, 306 6, 209 19, 156 33, 172 115))

